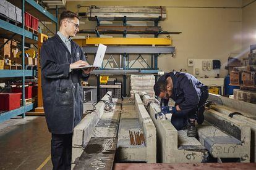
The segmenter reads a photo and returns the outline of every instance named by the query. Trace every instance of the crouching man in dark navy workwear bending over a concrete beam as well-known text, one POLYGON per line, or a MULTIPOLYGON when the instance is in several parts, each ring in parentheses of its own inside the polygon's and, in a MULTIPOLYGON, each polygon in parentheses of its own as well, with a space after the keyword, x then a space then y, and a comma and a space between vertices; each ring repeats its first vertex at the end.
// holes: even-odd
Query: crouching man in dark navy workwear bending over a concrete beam
POLYGON ((158 79, 154 91, 161 98, 161 105, 168 105, 169 98, 175 101, 171 116, 173 126, 178 131, 187 129, 189 137, 197 137, 195 120, 198 124, 203 123, 208 87, 189 73, 173 71, 158 79))

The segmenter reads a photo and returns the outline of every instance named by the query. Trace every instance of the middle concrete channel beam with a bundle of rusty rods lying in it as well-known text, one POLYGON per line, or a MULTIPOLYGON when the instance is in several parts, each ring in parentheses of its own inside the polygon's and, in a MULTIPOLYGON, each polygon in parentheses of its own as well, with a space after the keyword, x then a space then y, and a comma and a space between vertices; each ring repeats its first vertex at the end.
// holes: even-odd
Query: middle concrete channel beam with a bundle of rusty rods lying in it
POLYGON ((119 124, 117 158, 120 162, 143 161, 156 163, 156 130, 139 94, 125 99, 119 124), (132 105, 130 103, 133 103, 132 105), (145 144, 130 145, 129 131, 143 132, 145 144))

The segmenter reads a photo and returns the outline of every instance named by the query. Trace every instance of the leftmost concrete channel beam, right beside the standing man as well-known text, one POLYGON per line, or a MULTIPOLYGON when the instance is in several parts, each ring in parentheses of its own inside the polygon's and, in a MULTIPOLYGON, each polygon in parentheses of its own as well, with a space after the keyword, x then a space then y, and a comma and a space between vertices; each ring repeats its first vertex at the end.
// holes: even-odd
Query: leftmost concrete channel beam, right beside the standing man
MULTIPOLYGON (((111 92, 108 92, 111 95, 111 92)), ((108 100, 106 94, 102 100, 108 100)), ((113 111, 104 110, 105 103, 98 102, 96 111, 86 115, 75 126, 72 141, 72 163, 76 163, 91 137, 116 137, 120 119, 121 102, 113 98, 113 111)))

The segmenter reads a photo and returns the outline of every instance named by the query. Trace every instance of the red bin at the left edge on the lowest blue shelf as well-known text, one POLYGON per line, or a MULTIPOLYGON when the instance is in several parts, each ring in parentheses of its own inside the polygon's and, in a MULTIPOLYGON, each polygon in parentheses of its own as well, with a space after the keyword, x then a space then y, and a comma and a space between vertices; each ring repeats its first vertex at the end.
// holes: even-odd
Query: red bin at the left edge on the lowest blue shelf
POLYGON ((20 107, 21 93, 0 93, 0 110, 14 110, 20 107))

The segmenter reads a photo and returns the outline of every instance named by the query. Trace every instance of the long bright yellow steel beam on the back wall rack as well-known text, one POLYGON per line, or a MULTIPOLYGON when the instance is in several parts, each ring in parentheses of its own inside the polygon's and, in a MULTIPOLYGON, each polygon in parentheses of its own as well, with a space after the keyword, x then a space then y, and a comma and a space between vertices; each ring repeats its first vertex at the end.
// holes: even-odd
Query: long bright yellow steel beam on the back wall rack
POLYGON ((86 38, 74 39, 80 46, 104 44, 130 46, 170 46, 170 38, 86 38))

